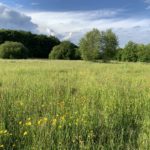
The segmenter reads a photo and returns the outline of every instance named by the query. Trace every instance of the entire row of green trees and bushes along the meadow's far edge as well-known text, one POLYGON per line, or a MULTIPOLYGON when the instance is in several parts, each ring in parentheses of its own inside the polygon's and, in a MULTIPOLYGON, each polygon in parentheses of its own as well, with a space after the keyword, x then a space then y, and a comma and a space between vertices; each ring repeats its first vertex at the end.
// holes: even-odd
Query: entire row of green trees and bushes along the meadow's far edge
POLYGON ((60 41, 54 36, 3 29, 0 30, 0 58, 149 62, 150 44, 129 41, 124 48, 120 48, 118 37, 111 29, 87 32, 78 46, 70 41, 60 41))

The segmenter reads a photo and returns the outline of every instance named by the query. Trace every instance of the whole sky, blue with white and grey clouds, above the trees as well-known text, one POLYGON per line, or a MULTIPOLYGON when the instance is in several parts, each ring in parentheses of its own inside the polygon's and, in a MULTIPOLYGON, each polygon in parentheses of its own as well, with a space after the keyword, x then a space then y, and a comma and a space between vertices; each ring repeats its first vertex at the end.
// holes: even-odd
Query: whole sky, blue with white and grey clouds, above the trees
POLYGON ((0 0, 0 28, 54 35, 78 44, 93 28, 111 28, 120 47, 150 43, 150 0, 0 0))

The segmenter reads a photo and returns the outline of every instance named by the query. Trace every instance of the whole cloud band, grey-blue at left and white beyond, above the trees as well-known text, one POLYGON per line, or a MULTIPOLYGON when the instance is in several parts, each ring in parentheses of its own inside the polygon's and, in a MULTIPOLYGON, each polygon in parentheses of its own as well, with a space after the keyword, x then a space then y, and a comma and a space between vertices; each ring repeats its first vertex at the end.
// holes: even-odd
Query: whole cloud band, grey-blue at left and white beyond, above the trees
MULTIPOLYGON (((148 0, 150 2, 150 0, 148 0)), ((148 2, 147 1, 147 2, 148 2)), ((0 3, 0 28, 29 30, 69 39, 76 44, 92 28, 112 28, 123 46, 129 40, 150 43, 149 18, 122 18, 123 10, 93 10, 70 12, 16 11, 0 3)))

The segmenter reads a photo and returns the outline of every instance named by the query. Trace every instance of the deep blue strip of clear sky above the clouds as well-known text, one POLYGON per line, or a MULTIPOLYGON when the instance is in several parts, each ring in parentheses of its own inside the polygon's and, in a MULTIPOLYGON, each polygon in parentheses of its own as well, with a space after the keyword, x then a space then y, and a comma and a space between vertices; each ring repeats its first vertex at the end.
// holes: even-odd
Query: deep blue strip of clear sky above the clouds
POLYGON ((128 9, 131 12, 143 11, 144 0, 2 0, 5 4, 22 5, 26 9, 47 11, 95 10, 104 8, 128 9))

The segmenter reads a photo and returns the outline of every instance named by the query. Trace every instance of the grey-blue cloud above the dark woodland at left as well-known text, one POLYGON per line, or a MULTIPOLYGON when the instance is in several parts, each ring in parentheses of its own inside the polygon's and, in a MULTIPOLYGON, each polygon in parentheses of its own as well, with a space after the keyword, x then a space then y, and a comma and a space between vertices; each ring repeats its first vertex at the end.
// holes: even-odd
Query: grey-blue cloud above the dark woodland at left
POLYGON ((31 17, 0 3, 0 28, 36 31, 31 17))

